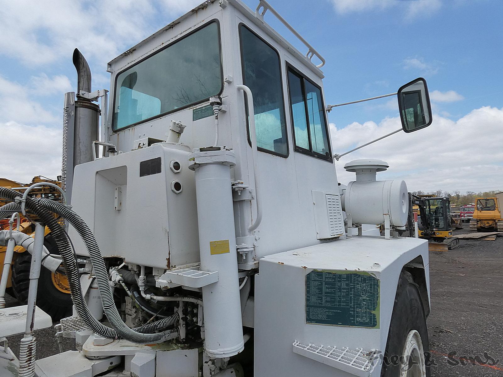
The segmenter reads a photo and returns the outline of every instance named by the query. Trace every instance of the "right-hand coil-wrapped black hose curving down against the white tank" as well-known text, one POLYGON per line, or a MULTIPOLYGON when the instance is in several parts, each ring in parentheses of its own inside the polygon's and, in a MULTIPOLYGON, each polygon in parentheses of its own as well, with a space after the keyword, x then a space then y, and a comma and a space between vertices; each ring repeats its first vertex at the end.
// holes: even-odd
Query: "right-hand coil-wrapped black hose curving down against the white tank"
MULTIPOLYGON (((96 280, 98 282, 98 288, 100 291, 100 296, 103 304, 103 310, 105 312, 105 315, 108 318, 108 321, 112 325, 115 331, 110 331, 109 327, 104 326, 101 322, 96 320, 92 315, 91 320, 94 320, 95 325, 97 327, 102 327, 103 328, 103 335, 104 337, 107 338, 116 338, 117 336, 127 339, 129 341, 135 342, 135 343, 161 343, 166 340, 172 340, 178 336, 179 330, 178 329, 172 329, 172 330, 165 330, 160 333, 155 333, 155 334, 145 334, 143 331, 147 332, 149 329, 160 329, 164 325, 173 325, 174 323, 178 322, 179 316, 178 314, 174 314, 173 316, 163 318, 159 321, 153 322, 151 324, 148 324, 146 326, 137 328, 137 329, 131 329, 128 327, 124 321, 122 320, 119 311, 117 310, 117 307, 115 306, 114 298, 112 295, 112 291, 110 289, 110 282, 109 282, 109 276, 108 276, 108 270, 105 265, 105 262, 103 260, 103 257, 101 255, 100 247, 98 246, 98 243, 96 242, 96 239, 94 237, 93 232, 89 228, 89 226, 80 218, 78 214, 76 214, 73 210, 71 210, 68 206, 65 206, 61 203, 54 202, 49 199, 36 199, 37 205, 40 205, 41 207, 45 208, 46 210, 49 210, 50 212, 54 212, 57 215, 61 216, 62 218, 66 219, 69 221, 69 223, 75 228, 77 233, 80 235, 82 240, 85 242, 86 247, 88 249, 89 255, 91 257, 91 262, 93 263, 93 271, 96 276, 96 280), (175 321, 175 322, 173 322, 175 321), (173 323, 172 323, 173 322, 173 323), (101 326, 99 326, 99 325, 101 326), (135 331, 136 330, 136 331, 135 331), (139 332, 141 331, 141 332, 139 332)), ((63 256, 63 259, 65 259, 65 256, 61 252, 61 255, 63 256)), ((73 258, 73 254, 71 255, 73 258)), ((74 259, 73 259, 74 261, 74 259)), ((73 263, 75 264, 75 263, 73 263)), ((82 300, 83 301, 83 300, 82 300)), ((77 308, 77 312, 79 311, 79 308, 77 308)), ((84 309, 84 306, 82 308, 84 309)), ((87 309, 87 307, 85 307, 87 309)), ((89 312, 89 310, 88 310, 89 312)), ((80 314, 80 313, 79 313, 80 314)), ((91 314, 91 313, 89 313, 91 314)), ((165 328, 165 327, 164 327, 165 328)))

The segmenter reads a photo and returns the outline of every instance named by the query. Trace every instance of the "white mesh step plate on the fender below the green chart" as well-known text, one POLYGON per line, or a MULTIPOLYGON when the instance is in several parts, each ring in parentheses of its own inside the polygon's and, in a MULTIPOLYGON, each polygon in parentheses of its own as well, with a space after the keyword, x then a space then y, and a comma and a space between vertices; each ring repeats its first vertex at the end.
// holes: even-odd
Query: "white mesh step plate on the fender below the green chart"
POLYGON ((293 351, 299 355, 319 361, 334 368, 344 370, 359 377, 368 377, 377 363, 376 351, 356 350, 348 347, 304 345, 297 340, 293 343, 293 351))

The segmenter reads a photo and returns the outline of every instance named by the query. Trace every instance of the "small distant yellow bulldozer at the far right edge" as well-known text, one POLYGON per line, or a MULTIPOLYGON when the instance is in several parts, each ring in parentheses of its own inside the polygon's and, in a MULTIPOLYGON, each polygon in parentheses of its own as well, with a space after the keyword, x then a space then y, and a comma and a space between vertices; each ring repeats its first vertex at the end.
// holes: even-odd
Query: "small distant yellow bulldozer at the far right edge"
POLYGON ((473 219, 470 220, 470 230, 503 232, 503 219, 498 198, 477 198, 475 200, 475 211, 473 219))

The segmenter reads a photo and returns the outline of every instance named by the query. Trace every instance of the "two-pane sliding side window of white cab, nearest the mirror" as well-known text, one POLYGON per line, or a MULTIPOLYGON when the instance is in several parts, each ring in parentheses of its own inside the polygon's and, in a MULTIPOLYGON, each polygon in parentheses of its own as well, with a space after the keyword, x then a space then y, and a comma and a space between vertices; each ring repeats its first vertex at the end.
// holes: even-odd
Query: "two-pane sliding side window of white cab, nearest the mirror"
POLYGON ((292 66, 287 69, 295 151, 332 161, 321 89, 292 66))

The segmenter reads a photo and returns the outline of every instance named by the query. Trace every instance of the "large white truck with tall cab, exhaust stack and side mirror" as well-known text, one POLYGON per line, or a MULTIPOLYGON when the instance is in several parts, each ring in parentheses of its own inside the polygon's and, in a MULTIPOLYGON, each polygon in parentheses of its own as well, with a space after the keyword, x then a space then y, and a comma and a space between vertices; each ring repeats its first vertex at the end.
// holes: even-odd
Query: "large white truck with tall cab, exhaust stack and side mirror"
MULTIPOLYGON (((0 187, 0 215, 51 229, 73 301, 58 335, 77 350, 35 360, 32 297, 0 309, 17 313, 0 312, 0 336, 30 324, 2 375, 428 376, 428 243, 399 236, 407 187, 376 179, 386 162, 351 161, 339 182, 324 62, 265 0, 205 1, 113 59, 109 104, 76 50, 71 206, 0 187)), ((395 94, 404 131, 431 124, 424 79, 395 94)), ((37 236, 32 252, 33 296, 37 236)))

